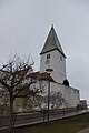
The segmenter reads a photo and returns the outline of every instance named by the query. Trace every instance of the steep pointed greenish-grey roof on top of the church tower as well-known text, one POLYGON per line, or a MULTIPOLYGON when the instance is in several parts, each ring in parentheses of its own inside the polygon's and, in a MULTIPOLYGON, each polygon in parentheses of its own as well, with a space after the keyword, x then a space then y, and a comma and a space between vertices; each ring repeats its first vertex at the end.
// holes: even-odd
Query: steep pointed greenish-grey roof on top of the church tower
POLYGON ((53 25, 51 25, 48 38, 46 40, 46 43, 44 43, 43 49, 40 54, 43 54, 43 53, 47 53, 47 52, 50 52, 53 50, 58 50, 66 58, 66 55, 62 51, 61 44, 58 40, 57 33, 55 31, 55 28, 53 28, 53 25))

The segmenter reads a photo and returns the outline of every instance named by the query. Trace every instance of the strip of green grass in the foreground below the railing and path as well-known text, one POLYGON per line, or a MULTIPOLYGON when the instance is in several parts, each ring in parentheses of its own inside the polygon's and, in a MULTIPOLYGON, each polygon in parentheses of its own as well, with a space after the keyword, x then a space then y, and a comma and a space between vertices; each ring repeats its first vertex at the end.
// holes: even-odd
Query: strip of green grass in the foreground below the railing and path
MULTIPOLYGON (((76 133, 82 129, 89 127, 89 120, 81 121, 62 121, 44 123, 22 129, 16 129, 11 133, 76 133)), ((8 133, 8 131, 0 131, 0 133, 8 133)))

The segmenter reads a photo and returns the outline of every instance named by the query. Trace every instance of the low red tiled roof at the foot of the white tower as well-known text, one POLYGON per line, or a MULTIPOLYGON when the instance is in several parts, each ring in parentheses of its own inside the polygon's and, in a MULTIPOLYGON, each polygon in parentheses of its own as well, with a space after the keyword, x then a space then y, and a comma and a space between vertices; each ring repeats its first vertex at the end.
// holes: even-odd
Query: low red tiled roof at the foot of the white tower
POLYGON ((55 82, 55 80, 47 72, 44 72, 44 73, 34 72, 34 73, 29 74, 28 76, 33 80, 49 80, 51 82, 55 82))

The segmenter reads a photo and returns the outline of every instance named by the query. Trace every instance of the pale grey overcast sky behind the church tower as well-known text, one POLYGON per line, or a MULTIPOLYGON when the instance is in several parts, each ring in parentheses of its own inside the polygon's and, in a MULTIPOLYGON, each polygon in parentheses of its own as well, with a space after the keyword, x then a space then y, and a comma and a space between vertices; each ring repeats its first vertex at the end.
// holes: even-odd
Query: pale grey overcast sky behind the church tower
POLYGON ((0 62, 30 53, 39 70, 51 24, 67 55, 70 85, 89 101, 89 0, 0 0, 0 62))

